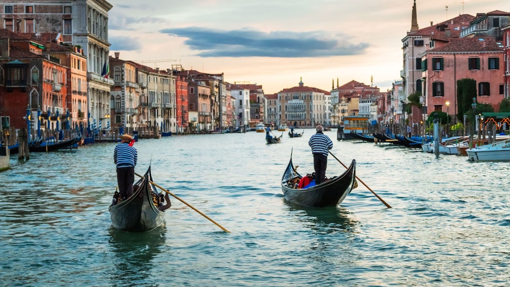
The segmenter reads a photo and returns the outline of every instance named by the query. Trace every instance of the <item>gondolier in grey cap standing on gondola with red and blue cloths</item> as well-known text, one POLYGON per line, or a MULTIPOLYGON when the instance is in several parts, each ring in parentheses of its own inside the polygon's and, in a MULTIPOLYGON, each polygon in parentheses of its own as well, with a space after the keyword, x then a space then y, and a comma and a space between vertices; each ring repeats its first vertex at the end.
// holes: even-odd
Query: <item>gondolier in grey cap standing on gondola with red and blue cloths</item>
POLYGON ((314 154, 315 184, 320 184, 326 177, 327 155, 333 149, 333 141, 325 135, 324 127, 317 126, 317 133, 310 137, 308 145, 312 147, 314 154))

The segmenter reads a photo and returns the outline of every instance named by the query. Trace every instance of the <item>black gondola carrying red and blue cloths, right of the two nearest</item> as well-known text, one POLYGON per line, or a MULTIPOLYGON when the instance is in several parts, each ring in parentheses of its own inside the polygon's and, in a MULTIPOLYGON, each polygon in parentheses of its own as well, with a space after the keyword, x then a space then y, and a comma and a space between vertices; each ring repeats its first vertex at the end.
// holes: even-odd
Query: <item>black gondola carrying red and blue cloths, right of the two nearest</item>
POLYGON ((337 206, 356 188, 356 161, 353 159, 347 170, 340 176, 309 188, 296 188, 302 176, 292 165, 292 155, 282 177, 282 190, 287 201, 302 206, 337 206))

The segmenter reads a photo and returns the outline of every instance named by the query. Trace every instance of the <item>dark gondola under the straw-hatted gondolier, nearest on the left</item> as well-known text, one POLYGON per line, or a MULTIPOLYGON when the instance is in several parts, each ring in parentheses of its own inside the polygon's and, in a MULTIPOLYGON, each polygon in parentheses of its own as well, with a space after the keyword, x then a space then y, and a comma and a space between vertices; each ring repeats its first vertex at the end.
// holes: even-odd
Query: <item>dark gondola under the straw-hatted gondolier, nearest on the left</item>
POLYGON ((124 231, 144 232, 160 226, 164 220, 164 211, 171 206, 168 194, 158 193, 151 183, 150 166, 143 178, 133 186, 133 195, 119 201, 120 194, 115 192, 112 205, 108 208, 112 226, 124 231))

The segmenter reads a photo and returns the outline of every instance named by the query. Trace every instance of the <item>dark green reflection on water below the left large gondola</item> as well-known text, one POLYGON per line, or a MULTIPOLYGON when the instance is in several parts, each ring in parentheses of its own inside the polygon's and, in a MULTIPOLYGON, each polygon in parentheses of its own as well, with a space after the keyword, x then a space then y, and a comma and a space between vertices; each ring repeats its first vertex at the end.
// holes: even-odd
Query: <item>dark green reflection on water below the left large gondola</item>
POLYGON ((112 285, 146 282, 153 271, 152 260, 162 253, 166 241, 166 226, 147 232, 127 232, 110 228, 109 246, 112 253, 114 274, 112 285))

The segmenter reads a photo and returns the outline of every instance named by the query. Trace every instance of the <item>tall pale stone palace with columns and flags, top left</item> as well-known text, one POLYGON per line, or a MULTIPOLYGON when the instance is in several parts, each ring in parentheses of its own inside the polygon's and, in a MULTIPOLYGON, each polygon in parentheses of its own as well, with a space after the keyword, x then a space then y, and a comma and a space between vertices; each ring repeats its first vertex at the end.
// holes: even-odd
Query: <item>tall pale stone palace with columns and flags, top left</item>
MULTIPOLYGON (((87 57, 87 112, 104 118, 110 109, 113 81, 108 74, 108 11, 105 0, 12 0, 4 5, 0 25, 18 33, 55 33, 66 44, 84 50, 87 57)), ((85 112, 85 110, 82 110, 85 112)))

